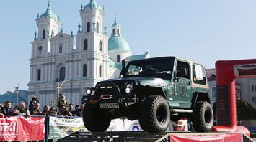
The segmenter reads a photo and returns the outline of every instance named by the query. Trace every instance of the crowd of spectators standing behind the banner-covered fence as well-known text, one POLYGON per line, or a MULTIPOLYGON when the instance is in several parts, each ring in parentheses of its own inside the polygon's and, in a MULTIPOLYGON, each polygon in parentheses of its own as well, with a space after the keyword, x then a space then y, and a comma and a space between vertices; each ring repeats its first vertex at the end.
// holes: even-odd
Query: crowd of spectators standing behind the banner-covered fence
POLYGON ((50 116, 82 116, 84 110, 84 104, 76 105, 75 109, 72 103, 68 104, 65 95, 61 95, 61 100, 58 101, 58 107, 50 107, 45 105, 43 111, 40 110, 40 103, 34 96, 30 101, 30 105, 27 108, 25 102, 21 101, 19 104, 12 108, 12 103, 6 101, 4 105, 0 104, 0 117, 23 115, 25 118, 30 118, 31 115, 50 115, 50 116))

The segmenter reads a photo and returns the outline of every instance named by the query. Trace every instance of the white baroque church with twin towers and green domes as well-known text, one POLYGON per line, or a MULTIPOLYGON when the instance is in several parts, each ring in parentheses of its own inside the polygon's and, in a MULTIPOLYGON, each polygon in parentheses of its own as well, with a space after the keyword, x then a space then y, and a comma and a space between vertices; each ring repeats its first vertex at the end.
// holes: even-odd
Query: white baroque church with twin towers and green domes
POLYGON ((28 91, 29 99, 37 96, 41 107, 56 106, 57 87, 61 84, 60 93, 66 95, 69 103, 79 105, 87 87, 119 76, 121 60, 150 56, 149 52, 132 55, 117 19, 112 24, 111 36, 107 37, 107 27, 103 26, 105 10, 95 0, 81 5, 79 13, 81 25, 75 36, 73 32, 63 32, 61 19, 53 14, 50 1, 46 11, 37 15, 38 32, 32 42, 28 91))

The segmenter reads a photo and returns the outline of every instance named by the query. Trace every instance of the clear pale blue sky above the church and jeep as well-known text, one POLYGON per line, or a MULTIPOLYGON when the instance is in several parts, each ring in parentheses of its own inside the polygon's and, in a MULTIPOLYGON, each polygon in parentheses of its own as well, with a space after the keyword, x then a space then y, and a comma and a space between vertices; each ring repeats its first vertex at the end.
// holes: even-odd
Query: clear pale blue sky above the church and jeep
MULTIPOLYGON (((31 42, 37 14, 48 0, 1 1, 0 94, 27 90, 30 80, 31 42)), ((81 24, 79 9, 89 0, 52 0, 67 34, 81 24)), ((217 60, 256 57, 255 0, 97 0, 105 7, 105 27, 118 22, 133 55, 177 56, 196 60, 206 68, 217 60)))

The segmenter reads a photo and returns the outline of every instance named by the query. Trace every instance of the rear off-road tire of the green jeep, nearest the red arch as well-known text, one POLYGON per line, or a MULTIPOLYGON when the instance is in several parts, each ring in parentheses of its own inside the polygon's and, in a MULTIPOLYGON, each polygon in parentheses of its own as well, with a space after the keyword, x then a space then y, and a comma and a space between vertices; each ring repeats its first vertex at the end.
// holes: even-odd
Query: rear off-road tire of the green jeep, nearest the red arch
POLYGON ((193 128, 197 132, 211 131, 213 126, 213 109, 210 103, 199 101, 195 103, 192 115, 193 128))

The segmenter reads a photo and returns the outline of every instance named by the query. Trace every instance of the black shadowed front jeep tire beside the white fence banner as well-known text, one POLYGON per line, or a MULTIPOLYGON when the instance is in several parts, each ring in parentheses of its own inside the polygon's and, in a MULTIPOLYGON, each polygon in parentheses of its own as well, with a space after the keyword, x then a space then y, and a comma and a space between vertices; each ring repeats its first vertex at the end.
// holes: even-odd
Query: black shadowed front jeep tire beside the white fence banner
POLYGON ((110 126, 110 115, 99 106, 87 103, 83 113, 84 126, 91 132, 104 132, 110 126))

